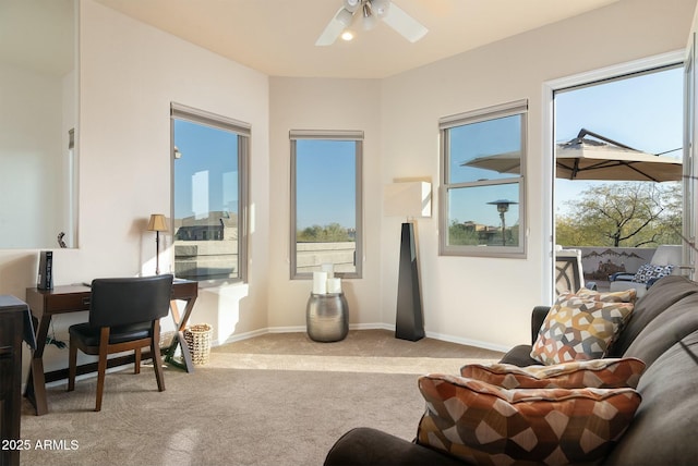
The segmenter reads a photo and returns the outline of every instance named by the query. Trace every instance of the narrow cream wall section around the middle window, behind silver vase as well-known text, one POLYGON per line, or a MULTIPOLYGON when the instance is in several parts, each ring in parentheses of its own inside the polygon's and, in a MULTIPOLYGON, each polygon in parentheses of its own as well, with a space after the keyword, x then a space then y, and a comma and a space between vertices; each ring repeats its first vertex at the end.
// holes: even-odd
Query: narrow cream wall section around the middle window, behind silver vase
MULTIPOLYGON (((344 280, 349 322, 382 322, 381 82, 273 77, 270 85, 269 326, 304 329, 310 280, 290 280, 289 130, 363 130, 363 278, 344 280)), ((397 252, 397 250, 396 250, 397 252)))

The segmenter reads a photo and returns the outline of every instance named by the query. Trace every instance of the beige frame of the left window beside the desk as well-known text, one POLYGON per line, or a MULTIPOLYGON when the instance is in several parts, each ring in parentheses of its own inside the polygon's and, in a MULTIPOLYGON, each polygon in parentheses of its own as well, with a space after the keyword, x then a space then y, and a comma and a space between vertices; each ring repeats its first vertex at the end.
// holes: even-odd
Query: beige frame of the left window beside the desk
MULTIPOLYGON (((170 225, 172 246, 174 246, 174 121, 188 121, 216 130, 228 131, 238 136, 238 273, 236 278, 215 278, 196 280, 200 284, 218 285, 222 283, 245 283, 248 281, 249 248, 249 189, 250 189, 250 139, 252 136, 249 123, 222 116, 205 110, 170 102, 170 225)), ((176 258, 172 247, 172 266, 176 258)))

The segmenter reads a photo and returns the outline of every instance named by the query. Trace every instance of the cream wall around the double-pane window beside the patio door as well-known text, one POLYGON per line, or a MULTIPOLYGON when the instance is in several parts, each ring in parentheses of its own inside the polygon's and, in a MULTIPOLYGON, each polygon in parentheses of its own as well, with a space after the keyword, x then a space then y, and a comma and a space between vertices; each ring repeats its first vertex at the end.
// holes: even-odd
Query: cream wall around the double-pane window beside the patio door
MULTIPOLYGON (((437 120, 441 116, 529 99, 528 257, 491 259, 438 256, 436 218, 419 222, 428 334, 508 347, 530 339, 530 310, 547 302, 542 283, 552 249, 550 188, 542 159, 542 84, 623 63, 686 44, 694 0, 621 1, 547 27, 385 79, 381 176, 429 175, 440 184, 437 120), (650 33, 651 32, 651 33, 650 33), (550 226, 549 226, 550 228, 550 226)), ((464 32, 467 34, 467 32, 464 32)), ((434 211, 438 211, 435 197, 434 211)), ((399 238, 393 219, 382 222, 383 320, 394 320, 399 238)))

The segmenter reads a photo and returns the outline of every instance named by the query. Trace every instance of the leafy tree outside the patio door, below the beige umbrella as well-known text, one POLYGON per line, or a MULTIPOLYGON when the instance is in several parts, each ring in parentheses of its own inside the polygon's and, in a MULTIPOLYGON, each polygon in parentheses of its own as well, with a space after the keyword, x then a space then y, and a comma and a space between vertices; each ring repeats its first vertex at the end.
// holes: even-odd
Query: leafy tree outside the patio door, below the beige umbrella
POLYGON ((563 246, 651 247, 679 244, 679 183, 606 183, 585 189, 557 216, 563 246))

